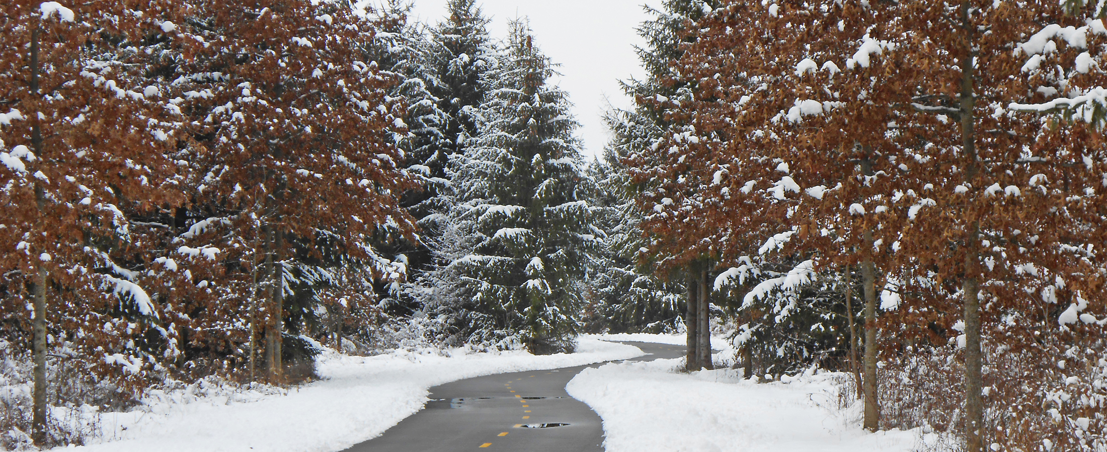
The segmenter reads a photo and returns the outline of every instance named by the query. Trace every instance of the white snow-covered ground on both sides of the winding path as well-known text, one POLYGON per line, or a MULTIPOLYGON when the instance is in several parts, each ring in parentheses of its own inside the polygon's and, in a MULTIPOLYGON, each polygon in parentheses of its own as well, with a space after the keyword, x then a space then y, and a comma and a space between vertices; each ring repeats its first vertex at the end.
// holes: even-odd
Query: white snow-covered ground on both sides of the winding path
MULTIPOLYGON (((611 340, 681 344, 676 336, 611 340)), ((723 347, 720 347, 723 348, 723 347)), ((333 452, 380 435, 423 408, 427 389, 465 378, 581 366, 641 356, 629 345, 580 339, 579 353, 394 353, 319 362, 327 379, 287 395, 167 395, 125 413, 104 413, 102 442, 76 448, 112 452, 333 452), (172 397, 170 397, 172 396, 172 397), (176 399, 173 401, 170 399, 176 399)), ((867 433, 856 410, 841 410, 832 375, 756 383, 736 370, 677 372, 680 359, 584 369, 568 392, 603 420, 608 452, 908 452, 914 431, 867 433)))

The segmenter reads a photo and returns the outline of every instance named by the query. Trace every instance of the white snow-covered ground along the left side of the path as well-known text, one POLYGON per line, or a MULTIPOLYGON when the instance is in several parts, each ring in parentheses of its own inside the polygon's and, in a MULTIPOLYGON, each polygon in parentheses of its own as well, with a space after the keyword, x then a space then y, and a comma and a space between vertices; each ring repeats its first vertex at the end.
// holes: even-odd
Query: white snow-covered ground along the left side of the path
MULTIPOLYGON (((439 356, 433 351, 320 357, 325 380, 283 395, 255 391, 199 399, 166 395, 142 410, 101 417, 111 452, 332 452, 377 437, 423 408, 427 389, 464 378, 554 369, 642 356, 637 347, 584 337, 578 353, 525 351, 439 356), (185 403, 185 400, 194 400, 185 403)), ((216 391, 218 393, 218 391, 216 391)), ((188 396, 188 395, 184 395, 188 396)), ((61 448, 59 448, 61 450, 61 448)), ((69 450, 69 449, 66 449, 69 450)))

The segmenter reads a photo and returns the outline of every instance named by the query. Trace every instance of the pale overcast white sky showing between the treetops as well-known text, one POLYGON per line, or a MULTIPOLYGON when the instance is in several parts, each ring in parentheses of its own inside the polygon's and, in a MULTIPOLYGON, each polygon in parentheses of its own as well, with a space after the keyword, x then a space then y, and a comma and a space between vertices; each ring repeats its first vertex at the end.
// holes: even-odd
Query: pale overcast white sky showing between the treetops
MULTIPOLYGON (((414 0, 412 19, 436 24, 445 15, 446 0, 414 0)), ((496 39, 507 34, 507 21, 530 19, 535 43, 555 63, 561 77, 555 81, 569 92, 573 114, 580 122, 578 138, 589 159, 602 153, 609 132, 602 115, 608 102, 627 107, 632 101, 619 88, 619 80, 643 72, 632 45, 641 44, 635 28, 648 19, 642 4, 660 0, 484 0, 485 15, 492 18, 489 32, 496 39)))

